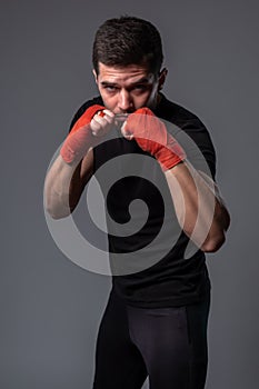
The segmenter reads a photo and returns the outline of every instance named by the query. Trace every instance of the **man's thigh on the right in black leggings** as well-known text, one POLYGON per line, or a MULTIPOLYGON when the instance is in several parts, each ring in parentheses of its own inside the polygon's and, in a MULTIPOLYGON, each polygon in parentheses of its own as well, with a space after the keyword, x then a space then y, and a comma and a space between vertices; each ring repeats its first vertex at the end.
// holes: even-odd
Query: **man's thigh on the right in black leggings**
POLYGON ((132 341, 141 351, 150 389, 202 389, 207 370, 207 303, 129 307, 132 341))

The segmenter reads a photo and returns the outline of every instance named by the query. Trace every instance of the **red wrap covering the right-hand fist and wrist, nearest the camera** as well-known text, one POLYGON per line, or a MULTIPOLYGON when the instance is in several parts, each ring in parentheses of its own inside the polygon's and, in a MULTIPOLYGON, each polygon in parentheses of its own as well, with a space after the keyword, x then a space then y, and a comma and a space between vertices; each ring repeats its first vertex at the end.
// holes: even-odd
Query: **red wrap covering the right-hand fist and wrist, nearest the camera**
POLYGON ((158 160, 163 171, 186 159, 181 146, 149 108, 140 108, 130 114, 124 132, 132 134, 139 147, 158 160))

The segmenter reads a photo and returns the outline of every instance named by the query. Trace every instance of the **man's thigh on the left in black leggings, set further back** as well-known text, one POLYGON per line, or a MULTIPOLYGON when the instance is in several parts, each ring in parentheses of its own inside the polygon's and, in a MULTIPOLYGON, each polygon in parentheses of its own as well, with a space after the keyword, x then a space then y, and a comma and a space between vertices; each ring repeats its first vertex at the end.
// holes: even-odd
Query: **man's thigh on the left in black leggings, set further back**
POLYGON ((141 389, 146 378, 143 359, 129 337, 126 307, 111 292, 97 339, 93 389, 141 389))

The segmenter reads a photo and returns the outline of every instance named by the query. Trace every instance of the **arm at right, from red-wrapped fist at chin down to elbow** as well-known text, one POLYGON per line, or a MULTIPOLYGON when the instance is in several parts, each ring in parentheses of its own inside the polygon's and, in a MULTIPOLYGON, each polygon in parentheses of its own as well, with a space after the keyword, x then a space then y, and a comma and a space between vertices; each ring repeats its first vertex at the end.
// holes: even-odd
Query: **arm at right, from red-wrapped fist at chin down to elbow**
POLYGON ((229 215, 216 196, 215 182, 188 162, 178 141, 148 108, 137 110, 122 126, 122 134, 135 138, 150 152, 166 174, 177 218, 183 231, 203 251, 216 251, 225 241, 229 215))

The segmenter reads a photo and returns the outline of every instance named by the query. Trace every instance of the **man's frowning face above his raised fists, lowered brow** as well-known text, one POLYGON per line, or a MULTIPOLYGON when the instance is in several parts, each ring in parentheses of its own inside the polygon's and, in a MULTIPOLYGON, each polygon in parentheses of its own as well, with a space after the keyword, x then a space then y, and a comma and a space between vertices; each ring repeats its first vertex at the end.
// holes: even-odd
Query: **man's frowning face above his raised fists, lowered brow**
POLYGON ((161 81, 147 67, 111 67, 99 62, 99 74, 94 70, 93 74, 104 106, 113 113, 130 113, 141 107, 156 107, 161 81))

